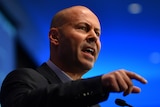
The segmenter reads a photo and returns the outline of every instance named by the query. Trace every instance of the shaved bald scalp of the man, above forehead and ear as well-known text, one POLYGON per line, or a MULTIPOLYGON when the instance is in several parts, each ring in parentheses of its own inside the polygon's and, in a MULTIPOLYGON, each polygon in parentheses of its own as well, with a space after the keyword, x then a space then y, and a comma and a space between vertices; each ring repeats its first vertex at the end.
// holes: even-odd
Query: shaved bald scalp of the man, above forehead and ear
MULTIPOLYGON (((75 16, 75 15, 77 16, 78 14, 84 14, 87 12, 97 18, 97 16, 89 8, 87 8, 85 6, 72 6, 72 7, 63 9, 55 14, 55 16, 52 19, 50 28, 60 27, 63 24, 67 23, 70 19, 72 19, 73 16, 75 16)), ((97 20, 98 20, 98 18, 97 18, 97 20)))

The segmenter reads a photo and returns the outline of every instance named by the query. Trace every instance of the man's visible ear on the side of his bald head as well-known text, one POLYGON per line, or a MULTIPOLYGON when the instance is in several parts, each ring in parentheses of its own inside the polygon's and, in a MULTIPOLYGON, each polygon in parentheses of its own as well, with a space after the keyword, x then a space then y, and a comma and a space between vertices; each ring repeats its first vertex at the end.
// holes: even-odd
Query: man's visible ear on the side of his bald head
POLYGON ((50 43, 54 44, 54 45, 58 45, 59 44, 59 32, 57 28, 51 28, 49 31, 49 40, 50 43))

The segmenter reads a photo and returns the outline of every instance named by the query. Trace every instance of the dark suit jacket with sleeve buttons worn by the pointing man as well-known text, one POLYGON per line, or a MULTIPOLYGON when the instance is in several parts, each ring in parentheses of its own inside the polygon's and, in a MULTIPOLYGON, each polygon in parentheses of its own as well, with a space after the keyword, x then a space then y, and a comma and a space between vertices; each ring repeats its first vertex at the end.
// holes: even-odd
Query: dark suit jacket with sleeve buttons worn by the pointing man
POLYGON ((0 98, 2 107, 99 107, 96 104, 106 100, 108 92, 100 76, 62 83, 44 63, 36 70, 21 68, 9 73, 0 98))

